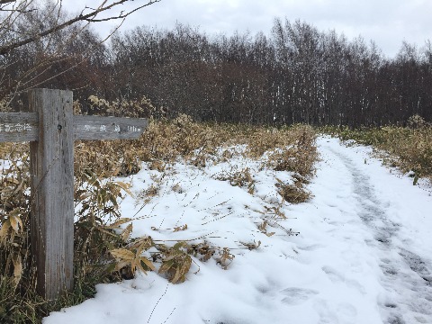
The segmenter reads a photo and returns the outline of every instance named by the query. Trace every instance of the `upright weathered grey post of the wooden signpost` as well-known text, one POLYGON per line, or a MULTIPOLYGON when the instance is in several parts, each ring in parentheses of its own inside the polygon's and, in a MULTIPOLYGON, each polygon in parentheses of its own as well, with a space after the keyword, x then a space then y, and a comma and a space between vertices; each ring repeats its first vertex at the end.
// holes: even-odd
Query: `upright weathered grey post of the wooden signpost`
POLYGON ((74 126, 72 92, 30 91, 39 114, 31 142, 31 252, 38 292, 54 299, 73 286, 74 126))

